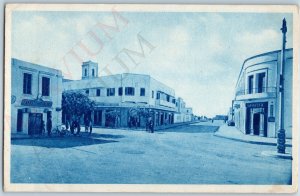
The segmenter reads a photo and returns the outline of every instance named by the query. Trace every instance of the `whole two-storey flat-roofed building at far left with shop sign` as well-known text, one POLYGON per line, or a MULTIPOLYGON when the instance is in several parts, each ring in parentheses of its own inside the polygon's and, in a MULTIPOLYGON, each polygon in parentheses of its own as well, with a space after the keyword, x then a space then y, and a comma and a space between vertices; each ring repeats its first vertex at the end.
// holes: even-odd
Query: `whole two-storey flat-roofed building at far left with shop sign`
POLYGON ((11 132, 42 133, 49 118, 61 124, 61 71, 12 58, 11 132))

